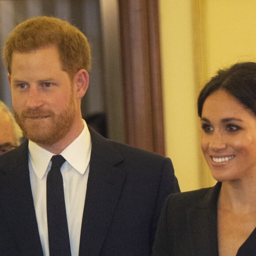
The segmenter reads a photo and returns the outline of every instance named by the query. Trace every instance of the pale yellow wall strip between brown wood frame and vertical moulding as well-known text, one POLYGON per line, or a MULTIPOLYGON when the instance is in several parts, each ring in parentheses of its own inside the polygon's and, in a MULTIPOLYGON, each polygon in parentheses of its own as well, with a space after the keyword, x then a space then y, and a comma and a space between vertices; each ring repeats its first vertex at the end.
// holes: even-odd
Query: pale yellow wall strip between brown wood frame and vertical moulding
POLYGON ((181 190, 200 187, 190 1, 159 0, 166 154, 181 190))

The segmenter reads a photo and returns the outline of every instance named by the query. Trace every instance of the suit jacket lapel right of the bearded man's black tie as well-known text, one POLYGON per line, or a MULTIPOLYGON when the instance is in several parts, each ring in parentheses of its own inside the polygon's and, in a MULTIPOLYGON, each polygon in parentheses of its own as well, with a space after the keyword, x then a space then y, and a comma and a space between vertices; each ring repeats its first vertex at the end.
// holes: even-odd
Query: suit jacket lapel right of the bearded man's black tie
POLYGON ((126 170, 120 153, 90 129, 92 151, 83 212, 79 255, 99 255, 120 196, 126 170))

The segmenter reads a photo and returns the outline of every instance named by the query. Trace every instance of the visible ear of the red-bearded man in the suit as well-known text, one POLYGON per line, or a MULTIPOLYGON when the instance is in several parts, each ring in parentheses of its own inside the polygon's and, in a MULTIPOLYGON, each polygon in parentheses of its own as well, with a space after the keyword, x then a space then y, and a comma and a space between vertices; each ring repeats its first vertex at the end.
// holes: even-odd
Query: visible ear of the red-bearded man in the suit
POLYGON ((83 98, 89 86, 89 74, 85 69, 80 69, 74 76, 74 93, 76 98, 83 98))

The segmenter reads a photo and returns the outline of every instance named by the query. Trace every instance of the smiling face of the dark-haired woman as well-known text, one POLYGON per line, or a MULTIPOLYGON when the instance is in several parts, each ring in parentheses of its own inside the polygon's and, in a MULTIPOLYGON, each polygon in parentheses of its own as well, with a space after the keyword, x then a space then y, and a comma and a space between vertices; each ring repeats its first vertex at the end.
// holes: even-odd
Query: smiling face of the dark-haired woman
POLYGON ((217 181, 256 174, 256 117, 233 95, 217 90, 203 104, 201 148, 217 181))

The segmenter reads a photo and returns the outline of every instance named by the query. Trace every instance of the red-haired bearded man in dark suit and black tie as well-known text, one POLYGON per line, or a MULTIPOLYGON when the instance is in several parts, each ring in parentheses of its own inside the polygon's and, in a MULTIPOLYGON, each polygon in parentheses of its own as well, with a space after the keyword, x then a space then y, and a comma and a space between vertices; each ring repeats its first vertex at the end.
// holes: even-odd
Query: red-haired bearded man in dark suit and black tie
POLYGON ((90 59, 87 38, 60 19, 32 18, 8 36, 12 105, 28 141, 0 157, 1 255, 150 255, 164 200, 180 191, 169 158, 82 119, 90 59))

